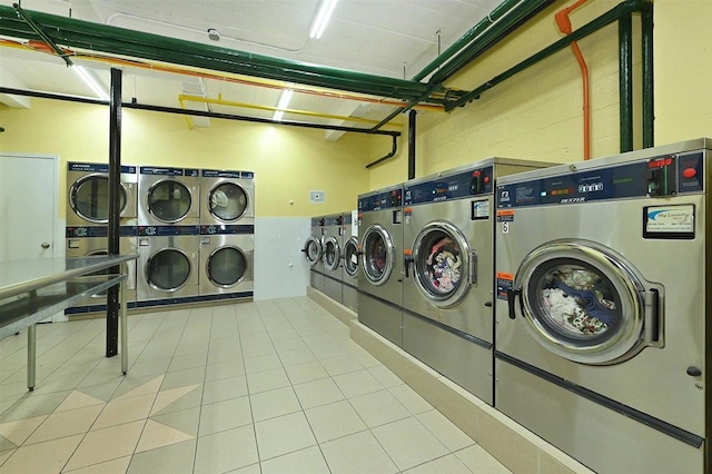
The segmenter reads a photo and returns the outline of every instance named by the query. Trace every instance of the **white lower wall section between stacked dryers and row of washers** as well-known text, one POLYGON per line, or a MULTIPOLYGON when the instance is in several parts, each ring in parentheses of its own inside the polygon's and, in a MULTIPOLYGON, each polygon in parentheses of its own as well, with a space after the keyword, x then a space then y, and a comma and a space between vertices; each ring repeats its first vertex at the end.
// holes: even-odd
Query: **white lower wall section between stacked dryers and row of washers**
POLYGON ((306 295, 309 264, 301 248, 310 235, 309 217, 255 218, 255 300, 306 295))

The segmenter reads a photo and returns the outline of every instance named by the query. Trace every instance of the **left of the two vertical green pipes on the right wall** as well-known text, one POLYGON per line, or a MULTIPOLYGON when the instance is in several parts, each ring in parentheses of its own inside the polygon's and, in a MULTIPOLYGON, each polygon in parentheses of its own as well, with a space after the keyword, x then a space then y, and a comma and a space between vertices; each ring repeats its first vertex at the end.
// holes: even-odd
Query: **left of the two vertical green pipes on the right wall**
POLYGON ((619 19, 619 95, 621 152, 633 150, 633 19, 619 19))

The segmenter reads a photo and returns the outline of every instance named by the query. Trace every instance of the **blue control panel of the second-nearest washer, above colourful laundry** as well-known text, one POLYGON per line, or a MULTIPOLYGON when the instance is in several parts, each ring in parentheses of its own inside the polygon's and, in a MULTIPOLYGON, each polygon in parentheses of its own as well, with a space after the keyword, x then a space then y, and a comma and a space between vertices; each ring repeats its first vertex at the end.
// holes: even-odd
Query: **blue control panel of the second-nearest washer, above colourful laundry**
POLYGON ((493 167, 471 169, 432 181, 404 185, 405 206, 463 199, 492 192, 493 167))

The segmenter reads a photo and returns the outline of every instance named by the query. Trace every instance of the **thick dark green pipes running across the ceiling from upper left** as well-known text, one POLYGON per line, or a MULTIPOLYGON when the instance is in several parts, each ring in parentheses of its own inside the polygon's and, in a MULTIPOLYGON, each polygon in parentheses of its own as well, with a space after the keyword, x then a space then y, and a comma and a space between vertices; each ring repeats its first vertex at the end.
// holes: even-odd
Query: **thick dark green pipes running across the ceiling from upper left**
MULTIPOLYGON (((32 11, 29 14, 53 42, 70 48, 402 100, 421 97, 429 89, 427 85, 418 81, 253 55, 48 13, 32 11)), ((12 8, 2 6, 0 6, 0 34, 43 40, 23 20, 17 18, 12 8)))

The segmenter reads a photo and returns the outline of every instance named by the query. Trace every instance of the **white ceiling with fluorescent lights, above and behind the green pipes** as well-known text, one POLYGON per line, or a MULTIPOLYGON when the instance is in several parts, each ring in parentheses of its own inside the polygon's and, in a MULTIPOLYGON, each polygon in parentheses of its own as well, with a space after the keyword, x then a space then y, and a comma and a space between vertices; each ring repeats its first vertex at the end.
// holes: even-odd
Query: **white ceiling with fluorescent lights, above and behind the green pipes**
MULTIPOLYGON (((0 0, 0 4, 9 7, 17 1, 0 0)), ((411 79, 500 3, 501 0, 339 0, 319 40, 309 40, 309 29, 320 0, 22 0, 20 4, 30 12, 71 16, 221 48, 411 79), (211 28, 220 33, 218 42, 208 38, 211 28)), ((108 89, 111 66, 73 62, 93 69, 108 89)), ((131 67, 121 69, 125 100, 136 98, 140 103, 180 107, 178 96, 184 91, 202 91, 208 98, 221 95, 225 100, 267 107, 275 107, 279 97, 277 89, 131 67)), ((0 70, 3 87, 96 97, 61 59, 50 55, 0 47, 0 70)), ((273 113, 209 107, 218 112, 256 117, 273 113)), ((304 93, 294 96, 289 109, 375 119, 393 110, 304 93)), ((287 113, 285 119, 365 126, 294 113, 287 113)))

